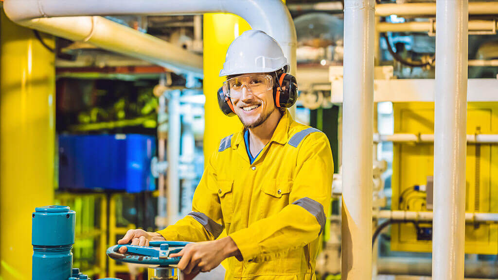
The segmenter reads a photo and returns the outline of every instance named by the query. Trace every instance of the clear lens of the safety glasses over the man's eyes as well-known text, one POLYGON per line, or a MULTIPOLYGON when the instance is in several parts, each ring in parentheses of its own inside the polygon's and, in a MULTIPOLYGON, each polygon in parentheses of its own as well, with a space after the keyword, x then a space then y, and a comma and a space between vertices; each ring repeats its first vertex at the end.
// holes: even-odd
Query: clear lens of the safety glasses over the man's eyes
POLYGON ((262 93, 271 90, 273 82, 270 75, 251 74, 229 79, 223 83, 225 95, 238 98, 244 88, 251 93, 262 93))

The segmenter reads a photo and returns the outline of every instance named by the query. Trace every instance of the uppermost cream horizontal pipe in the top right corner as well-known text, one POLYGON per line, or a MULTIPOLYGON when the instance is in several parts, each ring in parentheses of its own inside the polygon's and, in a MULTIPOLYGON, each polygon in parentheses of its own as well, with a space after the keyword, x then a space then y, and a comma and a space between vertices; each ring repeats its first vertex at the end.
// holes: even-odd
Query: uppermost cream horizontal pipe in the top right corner
MULTIPOLYGON (((437 1, 436 1, 437 2, 437 1)), ((490 2, 470 2, 469 14, 498 14, 498 3, 490 2)), ((419 15, 435 15, 436 3, 386 3, 375 6, 375 15, 389 16, 395 14, 397 16, 419 16, 419 15)))

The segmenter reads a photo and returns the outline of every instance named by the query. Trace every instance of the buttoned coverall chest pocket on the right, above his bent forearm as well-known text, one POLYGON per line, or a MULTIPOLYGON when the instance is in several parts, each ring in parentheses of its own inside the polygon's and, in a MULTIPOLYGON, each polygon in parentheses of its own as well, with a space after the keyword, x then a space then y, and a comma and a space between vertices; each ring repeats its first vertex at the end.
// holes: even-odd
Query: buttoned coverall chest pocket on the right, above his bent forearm
POLYGON ((292 181, 268 180, 261 186, 261 190, 260 217, 266 218, 280 212, 283 207, 289 205, 289 193, 292 190, 292 181))

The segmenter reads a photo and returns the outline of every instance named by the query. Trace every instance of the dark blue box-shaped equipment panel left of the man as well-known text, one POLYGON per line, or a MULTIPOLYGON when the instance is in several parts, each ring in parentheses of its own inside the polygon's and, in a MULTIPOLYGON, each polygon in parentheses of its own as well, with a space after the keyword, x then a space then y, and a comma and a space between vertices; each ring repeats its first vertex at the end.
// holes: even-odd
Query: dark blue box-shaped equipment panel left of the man
POLYGON ((149 135, 59 135, 59 188, 154 190, 150 161, 155 149, 155 137, 149 135))

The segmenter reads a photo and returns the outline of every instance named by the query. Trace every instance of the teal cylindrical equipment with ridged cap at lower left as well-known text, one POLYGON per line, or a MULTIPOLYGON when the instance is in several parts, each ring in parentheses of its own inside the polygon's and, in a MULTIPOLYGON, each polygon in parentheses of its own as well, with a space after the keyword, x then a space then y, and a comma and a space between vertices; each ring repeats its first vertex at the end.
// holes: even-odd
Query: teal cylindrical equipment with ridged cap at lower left
POLYGON ((31 232, 32 280, 67 280, 72 276, 75 214, 68 206, 36 207, 31 232))

